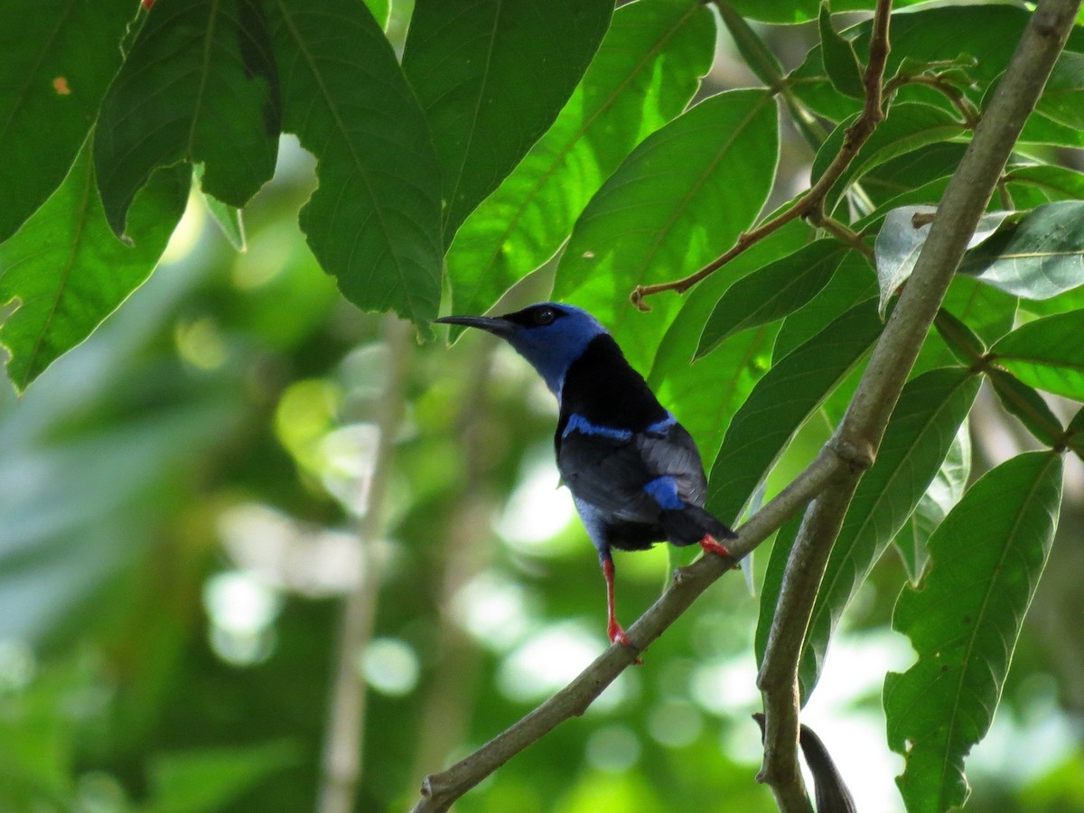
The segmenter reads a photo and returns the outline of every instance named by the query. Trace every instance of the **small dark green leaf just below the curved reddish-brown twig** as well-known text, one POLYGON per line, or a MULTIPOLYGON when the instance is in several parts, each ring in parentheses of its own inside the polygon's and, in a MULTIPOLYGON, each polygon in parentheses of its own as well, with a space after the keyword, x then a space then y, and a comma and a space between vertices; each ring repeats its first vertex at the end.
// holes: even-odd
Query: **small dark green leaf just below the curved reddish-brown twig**
POLYGON ((801 308, 828 284, 847 250, 839 241, 818 240, 735 282, 708 318, 696 358, 707 356, 735 333, 801 308))

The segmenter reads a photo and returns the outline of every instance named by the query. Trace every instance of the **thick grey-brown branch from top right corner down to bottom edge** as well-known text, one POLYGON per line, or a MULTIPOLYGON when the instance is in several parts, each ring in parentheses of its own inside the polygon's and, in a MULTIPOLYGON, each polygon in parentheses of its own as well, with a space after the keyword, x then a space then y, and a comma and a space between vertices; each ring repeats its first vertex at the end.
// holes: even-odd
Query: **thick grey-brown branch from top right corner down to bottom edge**
MULTIPOLYGON (((830 444, 873 460, 889 416, 930 324, 975 233, 1023 122, 1035 105, 1080 0, 1045 0, 1032 15, 1001 86, 945 190, 915 271, 874 348, 869 364, 830 444)), ((879 7, 878 7, 879 8, 879 7)), ((798 744, 798 662, 824 567, 860 472, 829 483, 810 506, 795 541, 772 621, 760 686, 767 718, 761 776, 783 810, 810 810, 795 771, 798 744)))

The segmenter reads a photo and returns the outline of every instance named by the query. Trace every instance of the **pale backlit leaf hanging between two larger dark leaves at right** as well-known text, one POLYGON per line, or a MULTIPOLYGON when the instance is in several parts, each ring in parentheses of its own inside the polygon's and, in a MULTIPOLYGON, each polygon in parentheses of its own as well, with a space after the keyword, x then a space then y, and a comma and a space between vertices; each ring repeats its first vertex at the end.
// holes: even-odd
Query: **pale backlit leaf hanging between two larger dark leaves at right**
POLYGON ((930 537, 953 506, 963 499, 970 476, 971 430, 965 420, 959 425, 937 476, 918 501, 915 512, 907 517, 903 529, 892 540, 907 568, 907 579, 912 584, 917 584, 926 570, 930 537))

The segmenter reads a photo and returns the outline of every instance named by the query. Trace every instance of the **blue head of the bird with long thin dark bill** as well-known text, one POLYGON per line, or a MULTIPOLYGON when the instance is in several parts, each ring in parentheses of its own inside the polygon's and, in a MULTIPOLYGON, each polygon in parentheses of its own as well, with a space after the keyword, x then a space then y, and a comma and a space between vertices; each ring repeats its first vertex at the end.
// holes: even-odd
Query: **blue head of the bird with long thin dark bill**
POLYGON ((503 317, 444 317, 437 321, 480 327, 500 336, 533 365, 558 399, 569 365, 595 336, 606 333, 582 308, 559 302, 539 302, 503 317))

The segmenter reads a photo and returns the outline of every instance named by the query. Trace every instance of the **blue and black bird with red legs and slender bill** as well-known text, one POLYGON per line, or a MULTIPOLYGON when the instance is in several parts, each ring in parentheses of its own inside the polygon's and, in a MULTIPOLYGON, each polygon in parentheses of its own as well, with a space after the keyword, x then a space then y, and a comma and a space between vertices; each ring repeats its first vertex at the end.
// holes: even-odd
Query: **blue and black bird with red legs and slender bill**
POLYGON ((692 435, 582 308, 538 302, 503 317, 436 321, 504 339, 556 397, 557 469, 598 552, 610 643, 631 645, 615 611, 612 551, 666 541, 730 556, 723 540, 736 538, 704 507, 708 480, 692 435))

